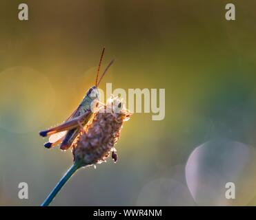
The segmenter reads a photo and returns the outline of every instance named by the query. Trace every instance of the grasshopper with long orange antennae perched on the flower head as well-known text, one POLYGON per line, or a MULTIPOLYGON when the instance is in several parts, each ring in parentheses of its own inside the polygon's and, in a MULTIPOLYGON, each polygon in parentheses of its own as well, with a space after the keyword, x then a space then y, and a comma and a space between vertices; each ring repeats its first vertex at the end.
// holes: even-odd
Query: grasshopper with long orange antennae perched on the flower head
POLYGON ((39 135, 41 135, 42 137, 50 135, 48 142, 44 144, 46 148, 52 148, 52 146, 60 144, 61 150, 67 150, 68 148, 70 148, 72 142, 75 140, 75 137, 77 137, 77 135, 79 134, 80 129, 83 128, 83 126, 85 126, 90 120, 92 116, 91 104, 94 100, 99 100, 99 83, 108 71, 108 68, 114 62, 114 60, 110 61, 103 74, 101 74, 101 77, 99 78, 99 70, 104 56, 104 51, 105 47, 101 52, 101 58, 99 60, 95 85, 88 89, 86 96, 84 96, 77 109, 62 124, 52 127, 51 129, 39 132, 39 135))

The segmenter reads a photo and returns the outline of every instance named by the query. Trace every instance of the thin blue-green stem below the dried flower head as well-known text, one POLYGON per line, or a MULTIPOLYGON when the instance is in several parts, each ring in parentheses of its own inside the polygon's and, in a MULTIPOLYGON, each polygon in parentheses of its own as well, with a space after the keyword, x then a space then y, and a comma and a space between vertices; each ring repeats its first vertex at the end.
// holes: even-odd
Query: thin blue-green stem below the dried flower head
POLYGON ((50 192, 46 200, 43 201, 43 203, 41 203, 41 206, 49 206, 52 200, 55 199, 55 196, 57 195, 59 190, 61 190, 62 186, 66 184, 68 179, 70 179, 70 177, 72 177, 75 171, 77 171, 80 167, 81 167, 80 163, 75 162, 75 164, 72 164, 72 166, 69 168, 67 173, 63 175, 63 177, 59 180, 59 182, 57 183, 55 188, 52 190, 52 192, 50 192))

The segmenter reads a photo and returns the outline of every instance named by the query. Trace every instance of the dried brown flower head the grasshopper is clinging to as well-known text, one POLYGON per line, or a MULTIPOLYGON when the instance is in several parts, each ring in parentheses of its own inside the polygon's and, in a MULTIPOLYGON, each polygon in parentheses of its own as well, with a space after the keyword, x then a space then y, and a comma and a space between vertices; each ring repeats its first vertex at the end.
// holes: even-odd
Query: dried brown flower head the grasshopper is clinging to
POLYGON ((81 131, 72 144, 74 162, 83 166, 99 164, 106 161, 111 153, 116 162, 114 145, 119 139, 124 121, 128 120, 130 115, 122 100, 113 96, 108 99, 106 105, 94 113, 85 131, 81 131))

